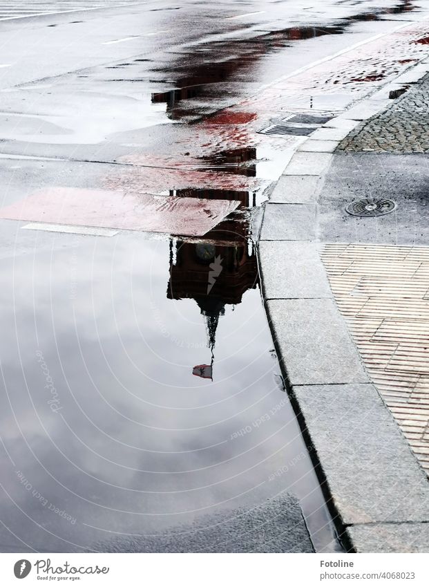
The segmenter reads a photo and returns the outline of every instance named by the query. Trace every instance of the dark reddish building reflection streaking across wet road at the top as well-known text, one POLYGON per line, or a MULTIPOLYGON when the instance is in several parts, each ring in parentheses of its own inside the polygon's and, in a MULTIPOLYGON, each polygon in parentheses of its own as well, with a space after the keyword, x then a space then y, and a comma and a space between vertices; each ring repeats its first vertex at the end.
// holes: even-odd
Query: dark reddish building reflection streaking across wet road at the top
MULTIPOLYGON (((250 39, 213 41, 207 46, 199 46, 196 50, 180 55, 180 58, 169 64, 168 68, 151 69, 152 73, 160 75, 160 80, 151 80, 152 82, 166 83, 165 80, 172 80, 171 83, 175 86, 164 92, 153 93, 152 103, 165 103, 166 113, 172 120, 204 118, 211 113, 210 102, 216 103, 216 109, 213 108, 215 111, 219 109, 221 100, 232 104, 234 97, 242 96, 242 89, 249 82, 249 73, 255 64, 270 53, 283 50, 295 41, 341 35, 359 21, 382 20, 388 15, 400 15, 416 8, 412 0, 403 0, 397 6, 366 10, 339 19, 330 25, 294 26, 263 32, 250 39), (240 83, 243 84, 242 88, 240 83), (184 104, 181 104, 182 101, 184 104)), ((421 42, 424 42, 424 39, 421 42)), ((368 81, 379 79, 368 78, 368 81)), ((227 103, 224 106, 227 106, 227 103)))

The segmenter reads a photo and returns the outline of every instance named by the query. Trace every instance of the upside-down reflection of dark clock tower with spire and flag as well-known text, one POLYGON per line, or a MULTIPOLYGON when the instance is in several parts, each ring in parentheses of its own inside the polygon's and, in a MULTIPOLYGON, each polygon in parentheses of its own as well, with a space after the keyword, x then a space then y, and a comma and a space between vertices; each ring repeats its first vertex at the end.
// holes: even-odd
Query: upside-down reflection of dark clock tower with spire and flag
POLYGON ((219 318, 225 315, 227 304, 240 304, 242 295, 257 283, 256 250, 249 240, 170 241, 167 297, 195 299, 207 324, 212 362, 194 367, 194 375, 211 378, 219 318))

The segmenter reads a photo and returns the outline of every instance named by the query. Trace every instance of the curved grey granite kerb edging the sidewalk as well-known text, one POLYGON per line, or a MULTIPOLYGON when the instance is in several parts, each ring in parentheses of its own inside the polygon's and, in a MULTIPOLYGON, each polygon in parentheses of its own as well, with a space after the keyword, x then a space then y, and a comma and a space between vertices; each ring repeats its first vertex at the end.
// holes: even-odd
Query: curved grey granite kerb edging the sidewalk
POLYGON ((371 103, 347 111, 292 157, 265 205, 260 274, 289 393, 346 550, 429 552, 428 479, 365 372, 316 242, 334 145, 372 114, 371 103))

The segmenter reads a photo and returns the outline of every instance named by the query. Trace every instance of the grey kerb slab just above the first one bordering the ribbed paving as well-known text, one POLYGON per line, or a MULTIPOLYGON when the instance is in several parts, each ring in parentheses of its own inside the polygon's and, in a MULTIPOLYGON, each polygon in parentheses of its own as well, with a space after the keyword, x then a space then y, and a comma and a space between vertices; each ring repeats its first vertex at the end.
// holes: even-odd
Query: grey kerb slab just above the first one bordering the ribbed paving
POLYGON ((316 206, 313 204, 267 204, 260 232, 262 241, 312 241, 316 206))

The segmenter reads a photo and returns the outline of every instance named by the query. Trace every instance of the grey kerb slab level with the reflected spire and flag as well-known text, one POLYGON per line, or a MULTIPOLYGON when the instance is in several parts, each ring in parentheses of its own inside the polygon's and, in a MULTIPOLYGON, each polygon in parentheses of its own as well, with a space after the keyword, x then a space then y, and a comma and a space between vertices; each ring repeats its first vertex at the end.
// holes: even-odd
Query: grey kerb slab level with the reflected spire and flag
POLYGON ((290 384, 369 381, 334 301, 276 299, 267 310, 290 384))

